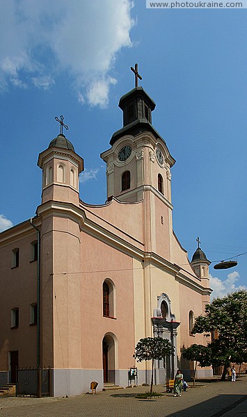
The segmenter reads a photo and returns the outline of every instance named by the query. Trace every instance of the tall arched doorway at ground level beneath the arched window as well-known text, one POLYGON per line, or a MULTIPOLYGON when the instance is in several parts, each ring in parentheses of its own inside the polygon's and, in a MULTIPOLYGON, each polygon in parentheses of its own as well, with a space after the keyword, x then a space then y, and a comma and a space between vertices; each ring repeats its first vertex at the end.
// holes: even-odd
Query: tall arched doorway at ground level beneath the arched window
POLYGON ((113 335, 105 334, 102 340, 102 361, 104 383, 115 383, 115 340, 113 335))

